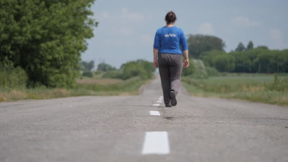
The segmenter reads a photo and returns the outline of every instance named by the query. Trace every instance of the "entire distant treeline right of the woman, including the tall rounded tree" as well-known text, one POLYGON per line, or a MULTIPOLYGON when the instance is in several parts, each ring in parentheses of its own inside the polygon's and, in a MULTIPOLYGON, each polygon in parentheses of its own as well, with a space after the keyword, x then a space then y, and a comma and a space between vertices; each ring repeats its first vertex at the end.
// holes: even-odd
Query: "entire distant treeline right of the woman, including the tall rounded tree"
POLYGON ((214 36, 190 35, 187 39, 189 55, 201 59, 206 66, 220 72, 236 73, 287 73, 288 49, 269 50, 266 46, 247 47, 239 43, 235 51, 226 53, 225 42, 214 36))

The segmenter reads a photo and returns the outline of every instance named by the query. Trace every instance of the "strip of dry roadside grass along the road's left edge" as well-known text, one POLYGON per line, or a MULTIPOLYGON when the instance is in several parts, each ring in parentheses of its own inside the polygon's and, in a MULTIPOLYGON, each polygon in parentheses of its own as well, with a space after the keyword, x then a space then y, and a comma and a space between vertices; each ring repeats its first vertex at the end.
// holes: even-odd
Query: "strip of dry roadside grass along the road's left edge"
MULTIPOLYGON (((93 79, 92 79, 93 80, 93 79)), ((0 88, 0 102, 17 101, 30 99, 51 99, 75 96, 112 96, 112 95, 137 95, 141 85, 149 80, 142 80, 135 77, 126 81, 122 80, 103 80, 94 79, 95 81, 84 79, 78 81, 77 87, 64 88, 0 88)))

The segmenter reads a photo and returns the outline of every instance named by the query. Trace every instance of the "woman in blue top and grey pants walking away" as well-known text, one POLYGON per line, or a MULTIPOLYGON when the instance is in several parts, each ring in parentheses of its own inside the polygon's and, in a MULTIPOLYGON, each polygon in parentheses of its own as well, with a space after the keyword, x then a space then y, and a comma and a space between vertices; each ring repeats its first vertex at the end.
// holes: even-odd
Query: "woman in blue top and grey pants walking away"
POLYGON ((165 21, 166 26, 159 28, 155 34, 153 55, 154 66, 159 67, 165 106, 171 107, 177 104, 176 95, 181 85, 183 64, 187 68, 189 59, 184 32, 174 26, 176 21, 174 12, 168 12, 165 21))

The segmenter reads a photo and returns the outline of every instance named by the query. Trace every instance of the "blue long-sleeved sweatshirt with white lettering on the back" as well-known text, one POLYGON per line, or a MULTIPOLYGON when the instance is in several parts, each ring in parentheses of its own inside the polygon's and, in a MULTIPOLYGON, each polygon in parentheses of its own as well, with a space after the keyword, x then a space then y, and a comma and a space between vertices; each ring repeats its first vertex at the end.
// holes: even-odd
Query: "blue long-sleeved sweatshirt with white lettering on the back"
POLYGON ((188 49, 187 41, 182 29, 176 26, 164 26, 157 30, 153 47, 158 49, 159 53, 182 55, 180 45, 183 51, 188 49))

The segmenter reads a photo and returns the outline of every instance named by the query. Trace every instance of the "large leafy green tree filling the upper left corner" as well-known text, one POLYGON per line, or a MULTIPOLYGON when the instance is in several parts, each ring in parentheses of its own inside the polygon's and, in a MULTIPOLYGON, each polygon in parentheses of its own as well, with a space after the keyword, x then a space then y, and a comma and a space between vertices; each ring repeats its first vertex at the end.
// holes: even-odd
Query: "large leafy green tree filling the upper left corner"
POLYGON ((0 61, 21 66, 32 84, 73 86, 86 39, 97 26, 93 2, 0 0, 0 61))

